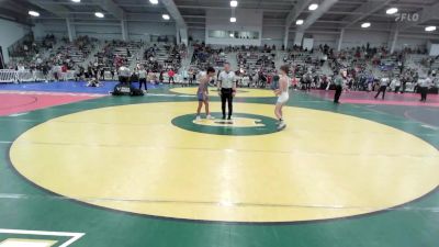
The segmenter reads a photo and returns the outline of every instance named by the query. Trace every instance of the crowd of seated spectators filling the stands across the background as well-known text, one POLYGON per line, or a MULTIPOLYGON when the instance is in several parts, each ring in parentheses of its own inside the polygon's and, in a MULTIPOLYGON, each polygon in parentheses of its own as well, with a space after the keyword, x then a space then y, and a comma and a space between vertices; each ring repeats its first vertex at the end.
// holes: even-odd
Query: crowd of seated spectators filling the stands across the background
MULTIPOLYGON (((138 76, 139 71, 145 70, 146 75, 150 75, 147 79, 151 81, 173 82, 175 76, 179 74, 179 78, 184 81, 194 82, 199 71, 209 66, 222 67, 230 53, 236 55, 236 74, 240 81, 246 78, 246 86, 266 88, 278 74, 277 47, 268 45, 214 48, 204 43, 195 43, 191 67, 181 68, 181 61, 188 54, 184 45, 153 44, 145 47, 142 42, 108 41, 95 55, 95 59, 83 65, 85 59, 95 48, 98 40, 80 36, 70 43, 47 35, 38 44, 33 37, 23 38, 21 44, 16 46, 21 48, 15 47, 15 56, 36 54, 30 60, 11 63, 10 68, 37 70, 44 75, 52 75, 55 79, 61 79, 60 75, 66 70, 75 70, 77 79, 115 79, 121 66, 134 65, 135 75, 138 76), (61 43, 54 49, 57 42, 61 43), (145 52, 137 56, 143 47, 145 52), (40 49, 49 50, 49 56, 41 57, 40 49)), ((419 78, 426 75, 436 78, 432 66, 438 61, 438 57, 424 57, 420 66, 429 69, 426 75, 419 75, 419 69, 407 66, 407 59, 413 54, 424 55, 426 50, 405 48, 391 54, 386 47, 371 47, 369 44, 340 52, 328 45, 319 45, 309 50, 293 46, 284 50, 280 63, 290 65, 292 85, 297 89, 329 89, 334 75, 344 69, 347 71, 348 90, 373 91, 379 87, 381 78, 385 77, 389 78, 390 88, 405 91, 406 85, 416 85, 419 78)))

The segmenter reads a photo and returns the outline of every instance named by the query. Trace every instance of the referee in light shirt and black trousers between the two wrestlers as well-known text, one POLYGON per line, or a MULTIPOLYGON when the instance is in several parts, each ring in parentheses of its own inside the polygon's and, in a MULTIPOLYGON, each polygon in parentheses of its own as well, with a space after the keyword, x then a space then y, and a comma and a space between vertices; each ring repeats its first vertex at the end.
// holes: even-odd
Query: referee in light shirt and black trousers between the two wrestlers
POLYGON ((218 92, 221 96, 223 120, 226 119, 226 102, 228 105, 228 120, 232 120, 233 114, 233 98, 236 94, 236 76, 230 71, 230 64, 224 64, 224 71, 218 76, 218 92))

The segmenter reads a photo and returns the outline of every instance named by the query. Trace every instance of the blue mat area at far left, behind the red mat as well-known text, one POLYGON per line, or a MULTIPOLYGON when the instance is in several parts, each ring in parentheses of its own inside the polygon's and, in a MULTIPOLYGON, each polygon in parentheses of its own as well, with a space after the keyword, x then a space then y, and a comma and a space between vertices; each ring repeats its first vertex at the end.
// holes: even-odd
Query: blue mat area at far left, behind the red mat
MULTIPOLYGON (((99 93, 108 94, 113 91, 116 81, 104 81, 102 87, 87 87, 85 81, 60 81, 60 82, 29 82, 29 83, 0 83, 0 90, 16 91, 43 91, 43 92, 76 92, 76 93, 99 93)), ((138 88, 138 82, 133 82, 138 88)), ((148 85, 148 89, 162 88, 164 86, 148 85)))

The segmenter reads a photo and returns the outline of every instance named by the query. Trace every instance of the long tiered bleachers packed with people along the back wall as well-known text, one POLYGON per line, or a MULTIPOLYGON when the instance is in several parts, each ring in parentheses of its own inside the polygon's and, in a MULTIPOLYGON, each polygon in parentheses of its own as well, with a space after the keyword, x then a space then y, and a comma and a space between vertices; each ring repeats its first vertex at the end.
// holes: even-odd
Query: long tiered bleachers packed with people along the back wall
MULTIPOLYGON (((93 71, 93 75, 95 71, 101 74, 103 70, 105 79, 114 79, 113 75, 120 66, 127 66, 136 71, 134 68, 142 65, 147 70, 155 72, 157 78, 160 71, 165 71, 165 81, 168 80, 167 71, 172 69, 177 74, 176 82, 179 83, 182 82, 183 71, 192 70, 199 74, 207 66, 221 69, 227 59, 235 60, 236 57, 237 63, 234 64, 233 68, 236 69, 240 85, 244 87, 259 87, 260 78, 271 78, 275 75, 280 63, 289 64, 292 68, 290 76, 296 78, 302 78, 307 72, 311 72, 313 77, 331 76, 334 71, 346 68, 351 75, 371 75, 375 79, 384 76, 398 76, 401 74, 399 66, 404 63, 403 76, 409 74, 408 90, 413 88, 415 80, 417 80, 415 74, 424 75, 428 70, 439 70, 437 58, 424 54, 410 54, 407 50, 389 55, 384 47, 371 48, 369 52, 364 47, 354 47, 339 53, 333 53, 333 50, 325 53, 322 49, 307 52, 295 47, 279 55, 279 52, 267 46, 212 47, 194 45, 191 63, 187 63, 185 67, 181 68, 181 61, 188 49, 184 46, 167 43, 144 44, 143 42, 106 41, 101 46, 97 40, 87 36, 78 37, 72 43, 67 42, 66 38, 56 43, 55 38, 48 36, 45 41, 34 43, 33 46, 47 47, 47 58, 49 59, 42 59, 41 54, 29 60, 32 63, 26 63, 26 58, 13 58, 16 59, 16 64, 29 68, 29 70, 15 72, 14 76, 11 76, 12 72, 5 72, 7 79, 4 81, 11 80, 12 77, 13 81, 45 79, 46 77, 40 75, 42 67, 37 66, 36 58, 38 58, 40 64, 48 63, 50 77, 56 71, 56 68, 53 67, 61 64, 67 64, 69 70, 72 71, 68 74, 70 75, 69 78, 72 77, 75 69, 78 71, 79 66, 79 70, 93 71), (54 48, 50 49, 50 47, 54 48), (93 53, 99 50, 93 60, 88 59, 93 54, 92 50, 94 50, 93 53), (33 70, 36 70, 36 72, 33 72, 33 70)), ((267 86, 266 82, 262 85, 267 86)))

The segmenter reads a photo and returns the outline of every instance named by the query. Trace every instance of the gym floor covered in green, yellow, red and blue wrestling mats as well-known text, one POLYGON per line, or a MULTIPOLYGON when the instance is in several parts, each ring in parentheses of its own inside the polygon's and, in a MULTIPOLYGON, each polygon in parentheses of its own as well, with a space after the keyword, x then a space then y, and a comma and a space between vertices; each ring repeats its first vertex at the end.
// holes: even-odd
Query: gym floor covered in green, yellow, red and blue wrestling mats
MULTIPOLYGON (((72 87, 74 86, 74 87, 72 87)), ((0 85, 0 247, 434 247, 439 98, 0 85), (213 115, 221 116, 211 92, 213 115)))

